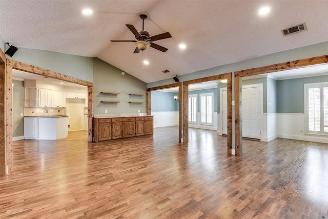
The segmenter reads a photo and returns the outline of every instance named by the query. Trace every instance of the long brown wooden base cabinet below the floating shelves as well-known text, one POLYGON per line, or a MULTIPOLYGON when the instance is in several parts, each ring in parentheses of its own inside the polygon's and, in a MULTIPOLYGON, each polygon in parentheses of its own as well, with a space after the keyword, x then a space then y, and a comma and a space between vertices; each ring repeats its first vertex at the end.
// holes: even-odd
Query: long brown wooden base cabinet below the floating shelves
POLYGON ((94 141, 154 133, 153 116, 94 118, 94 141))

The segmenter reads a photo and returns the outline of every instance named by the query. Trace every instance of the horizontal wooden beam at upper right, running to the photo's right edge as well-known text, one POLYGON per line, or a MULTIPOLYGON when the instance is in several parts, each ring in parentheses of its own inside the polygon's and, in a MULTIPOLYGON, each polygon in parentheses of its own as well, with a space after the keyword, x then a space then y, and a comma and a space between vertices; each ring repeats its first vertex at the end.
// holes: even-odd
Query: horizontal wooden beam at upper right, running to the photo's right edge
POLYGON ((305 66, 323 64, 323 63, 328 63, 328 55, 321 55, 321 56, 316 56, 316 57, 312 57, 312 58, 304 58, 304 59, 300 59, 300 60, 295 60, 292 62, 279 63, 279 64, 274 64, 274 65, 269 65, 269 66, 262 66, 262 67, 258 67, 258 68, 236 71, 235 77, 264 74, 264 73, 282 71, 282 70, 287 70, 287 69, 292 69, 292 68, 301 68, 301 67, 305 67, 305 66))

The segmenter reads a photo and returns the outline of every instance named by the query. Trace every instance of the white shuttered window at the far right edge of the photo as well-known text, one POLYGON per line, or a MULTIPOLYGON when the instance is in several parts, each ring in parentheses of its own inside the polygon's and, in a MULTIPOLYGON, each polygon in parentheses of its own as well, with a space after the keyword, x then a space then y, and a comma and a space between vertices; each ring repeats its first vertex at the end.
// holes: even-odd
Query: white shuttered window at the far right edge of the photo
POLYGON ((304 87, 306 133, 328 135, 328 83, 304 87))

